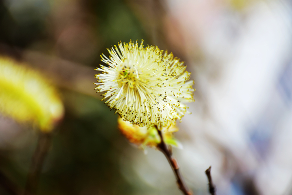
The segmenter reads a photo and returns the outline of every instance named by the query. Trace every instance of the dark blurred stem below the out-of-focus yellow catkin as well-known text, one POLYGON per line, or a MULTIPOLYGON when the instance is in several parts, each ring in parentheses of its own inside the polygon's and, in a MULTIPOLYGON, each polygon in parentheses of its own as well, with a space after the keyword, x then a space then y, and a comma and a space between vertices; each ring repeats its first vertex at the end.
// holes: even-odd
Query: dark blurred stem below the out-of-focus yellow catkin
POLYGON ((32 158, 31 166, 27 176, 27 182, 25 186, 24 195, 35 195, 37 192, 37 184, 39 175, 51 146, 52 134, 51 133, 39 133, 37 148, 32 158))

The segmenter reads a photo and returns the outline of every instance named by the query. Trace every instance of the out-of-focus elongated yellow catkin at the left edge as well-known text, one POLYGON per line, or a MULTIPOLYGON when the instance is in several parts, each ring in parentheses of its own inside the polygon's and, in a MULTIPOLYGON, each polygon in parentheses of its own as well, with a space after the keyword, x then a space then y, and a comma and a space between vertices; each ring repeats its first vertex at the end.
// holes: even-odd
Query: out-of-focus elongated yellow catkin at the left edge
POLYGON ((0 113, 46 132, 62 118, 64 108, 55 89, 37 72, 0 58, 0 113))

